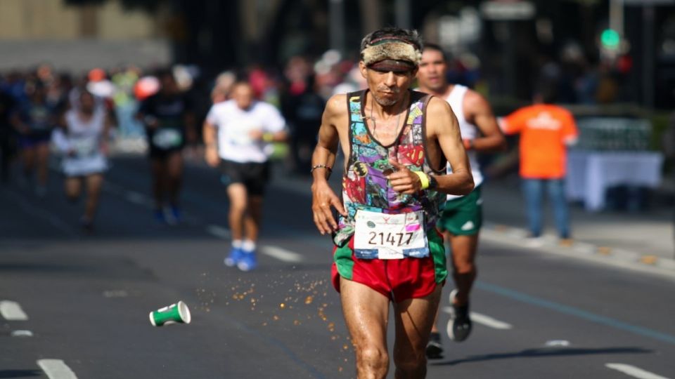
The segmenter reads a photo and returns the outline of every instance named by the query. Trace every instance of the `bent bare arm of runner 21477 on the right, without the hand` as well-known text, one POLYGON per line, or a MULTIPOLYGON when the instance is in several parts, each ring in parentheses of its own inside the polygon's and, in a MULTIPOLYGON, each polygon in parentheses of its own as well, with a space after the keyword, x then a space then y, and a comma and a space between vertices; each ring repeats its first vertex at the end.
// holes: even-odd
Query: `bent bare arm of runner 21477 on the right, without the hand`
POLYGON ((457 117, 446 101, 440 98, 430 100, 427 107, 427 125, 452 167, 452 173, 436 176, 438 190, 446 194, 470 193, 474 183, 469 160, 459 133, 457 117))

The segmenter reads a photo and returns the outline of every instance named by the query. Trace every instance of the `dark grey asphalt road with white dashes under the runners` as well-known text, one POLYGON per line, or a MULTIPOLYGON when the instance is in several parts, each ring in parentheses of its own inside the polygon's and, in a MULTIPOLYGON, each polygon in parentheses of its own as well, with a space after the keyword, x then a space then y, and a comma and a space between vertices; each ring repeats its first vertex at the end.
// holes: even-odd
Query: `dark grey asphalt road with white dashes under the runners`
MULTIPOLYGON (((354 377, 307 182, 276 173, 260 267, 239 272, 222 265, 217 173, 188 164, 185 220, 169 226, 153 220, 147 162, 114 164, 93 235, 56 173, 43 198, 0 187, 0 378, 354 377), (148 312, 178 300, 191 324, 150 325, 148 312)), ((675 378, 675 276, 487 237, 473 335, 444 336, 428 378, 675 378)))

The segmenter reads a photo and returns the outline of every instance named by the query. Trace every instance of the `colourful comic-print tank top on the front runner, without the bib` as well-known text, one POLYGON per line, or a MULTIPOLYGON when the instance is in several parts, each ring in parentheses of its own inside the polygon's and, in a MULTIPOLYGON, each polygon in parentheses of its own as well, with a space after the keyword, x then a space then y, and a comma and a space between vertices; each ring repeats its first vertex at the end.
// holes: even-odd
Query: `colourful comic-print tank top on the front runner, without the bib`
MULTIPOLYGON (((425 229, 436 225, 439 209, 446 200, 442 192, 420 191, 418 194, 399 194, 387 183, 386 176, 392 166, 389 159, 397 159, 411 171, 444 174, 436 171, 428 162, 425 138, 426 105, 430 95, 410 91, 411 105, 399 137, 392 145, 381 145, 364 119, 366 91, 347 94, 349 107, 349 159, 342 177, 342 201, 347 216, 340 216, 338 232, 334 241, 344 245, 354 234, 356 211, 399 214, 423 211, 425 229)), ((443 169, 445 162, 439 164, 443 169)))

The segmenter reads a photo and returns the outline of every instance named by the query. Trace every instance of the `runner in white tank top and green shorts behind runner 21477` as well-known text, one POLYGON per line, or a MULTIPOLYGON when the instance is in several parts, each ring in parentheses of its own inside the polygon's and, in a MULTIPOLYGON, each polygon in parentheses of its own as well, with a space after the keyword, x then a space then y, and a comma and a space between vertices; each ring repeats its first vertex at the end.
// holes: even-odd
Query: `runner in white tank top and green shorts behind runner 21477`
MULTIPOLYGON (((450 294, 454 308, 448 324, 448 335, 456 341, 468 338, 471 332, 469 317, 469 292, 476 279, 475 256, 478 232, 482 225, 482 199, 480 185, 483 175, 476 159, 476 152, 496 152, 506 148, 506 140, 499 130, 492 109, 477 92, 447 81, 447 60, 440 46, 425 44, 422 61, 417 73, 420 91, 446 100, 457 117, 464 147, 471 164, 475 189, 466 196, 449 194, 439 220, 439 229, 450 242, 452 276, 456 289, 450 294)), ((448 172, 452 168, 448 166, 448 172)), ((427 346, 427 357, 443 357, 443 346, 436 323, 427 346)))

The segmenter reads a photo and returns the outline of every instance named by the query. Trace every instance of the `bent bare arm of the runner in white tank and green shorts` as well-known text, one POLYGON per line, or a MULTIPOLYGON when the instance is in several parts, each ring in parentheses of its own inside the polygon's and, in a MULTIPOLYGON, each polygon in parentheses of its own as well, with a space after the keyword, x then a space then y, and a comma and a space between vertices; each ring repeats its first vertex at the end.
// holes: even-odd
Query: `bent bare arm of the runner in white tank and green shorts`
MULTIPOLYGON (((464 98, 464 114, 467 121, 477 126, 482 134, 470 143, 470 148, 479 152, 503 152, 506 150, 506 138, 494 117, 492 108, 485 98, 475 91, 468 91, 464 98)), ((466 147, 466 144, 464 145, 466 147)))

